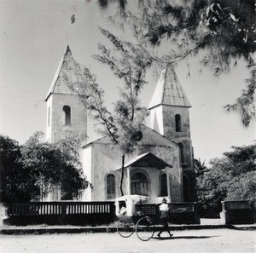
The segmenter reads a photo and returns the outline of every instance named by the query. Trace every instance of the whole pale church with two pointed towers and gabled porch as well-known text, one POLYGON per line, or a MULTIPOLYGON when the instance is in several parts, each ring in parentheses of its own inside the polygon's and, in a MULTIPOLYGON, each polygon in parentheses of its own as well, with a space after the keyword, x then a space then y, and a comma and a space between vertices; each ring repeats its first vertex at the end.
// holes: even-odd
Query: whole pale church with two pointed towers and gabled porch
MULTIPOLYGON (((62 78, 73 75, 73 55, 67 45, 45 101, 46 140, 65 138, 67 130, 87 132, 87 108, 62 78)), ((125 155, 124 194, 140 194, 155 203, 196 201, 193 147, 190 139, 187 96, 173 66, 160 73, 149 103, 151 126, 142 126, 142 139, 131 155, 125 155)), ((108 136, 81 147, 84 175, 94 186, 81 200, 104 201, 120 197, 122 153, 108 136)), ((57 197, 60 198, 60 197, 57 197)))

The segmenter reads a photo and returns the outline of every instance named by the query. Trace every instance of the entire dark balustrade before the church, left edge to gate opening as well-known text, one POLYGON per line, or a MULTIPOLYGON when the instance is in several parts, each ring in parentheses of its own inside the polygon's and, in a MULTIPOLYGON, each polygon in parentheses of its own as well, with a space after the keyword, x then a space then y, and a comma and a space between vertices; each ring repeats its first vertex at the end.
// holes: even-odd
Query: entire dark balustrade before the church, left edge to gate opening
MULTIPOLYGON (((30 202, 21 204, 4 204, 4 224, 26 226, 30 224, 48 225, 91 225, 110 224, 115 221, 115 206, 109 202, 30 202)), ((170 206, 173 224, 200 224, 197 204, 172 203, 170 206)), ((157 204, 137 204, 147 216, 157 217, 157 204)))

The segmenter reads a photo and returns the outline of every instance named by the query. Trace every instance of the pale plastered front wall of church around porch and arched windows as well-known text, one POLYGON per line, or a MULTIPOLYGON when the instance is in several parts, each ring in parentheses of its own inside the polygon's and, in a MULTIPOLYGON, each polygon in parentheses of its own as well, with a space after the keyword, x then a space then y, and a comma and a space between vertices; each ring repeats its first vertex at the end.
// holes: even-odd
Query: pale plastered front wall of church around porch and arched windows
MULTIPOLYGON (((171 175, 172 202, 183 201, 182 169, 179 166, 178 147, 175 144, 172 145, 172 147, 165 145, 140 145, 132 155, 125 156, 125 163, 127 163, 132 158, 136 158, 139 154, 144 152, 152 152, 155 156, 166 161, 166 163, 172 164, 173 168, 166 170, 159 170, 150 167, 131 168, 131 176, 136 173, 136 171, 143 171, 145 175, 148 175, 149 194, 151 195, 150 197, 156 202, 158 201, 158 197, 160 197, 160 174, 162 172, 168 172, 171 175)), ((88 156, 89 152, 91 154, 91 163, 84 163, 84 174, 87 175, 89 172, 89 175, 87 175, 89 179, 91 171, 91 182, 94 186, 94 190, 91 193, 91 198, 88 198, 88 195, 86 195, 86 191, 88 191, 86 190, 84 199, 93 201, 107 200, 106 178, 108 173, 112 173, 115 176, 115 198, 119 197, 122 153, 117 147, 109 143, 92 143, 88 147, 84 147, 84 158, 88 156)), ((89 158, 90 155, 88 159, 89 158)), ((126 169, 123 181, 123 192, 124 194, 128 193, 126 169)))

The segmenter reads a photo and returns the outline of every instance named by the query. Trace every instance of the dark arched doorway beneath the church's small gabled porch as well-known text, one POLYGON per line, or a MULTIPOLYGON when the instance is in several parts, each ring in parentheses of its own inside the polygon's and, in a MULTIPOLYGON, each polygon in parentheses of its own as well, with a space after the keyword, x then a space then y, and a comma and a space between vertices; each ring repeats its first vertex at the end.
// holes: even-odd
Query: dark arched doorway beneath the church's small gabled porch
POLYGON ((148 179, 141 172, 131 176, 131 194, 148 196, 148 179))

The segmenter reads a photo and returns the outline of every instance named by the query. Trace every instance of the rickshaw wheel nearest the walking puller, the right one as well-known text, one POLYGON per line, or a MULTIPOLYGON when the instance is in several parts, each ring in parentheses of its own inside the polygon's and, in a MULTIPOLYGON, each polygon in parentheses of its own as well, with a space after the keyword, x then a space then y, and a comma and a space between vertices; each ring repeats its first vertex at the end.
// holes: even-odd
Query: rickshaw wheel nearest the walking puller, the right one
POLYGON ((136 224, 137 237, 143 241, 148 241, 154 235, 154 220, 150 217, 143 217, 136 224))

